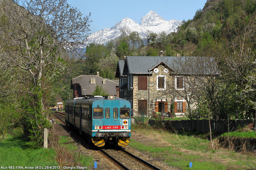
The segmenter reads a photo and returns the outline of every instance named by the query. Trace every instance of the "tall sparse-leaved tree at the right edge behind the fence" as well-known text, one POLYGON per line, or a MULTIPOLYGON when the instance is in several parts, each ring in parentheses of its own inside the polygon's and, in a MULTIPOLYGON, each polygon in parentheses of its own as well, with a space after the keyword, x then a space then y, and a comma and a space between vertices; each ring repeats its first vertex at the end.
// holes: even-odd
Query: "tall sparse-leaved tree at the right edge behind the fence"
MULTIPOLYGON (((215 50, 221 62, 219 68, 222 76, 231 79, 241 88, 243 103, 243 119, 246 119, 248 92, 253 90, 252 83, 255 82, 255 25, 256 15, 247 16, 240 14, 239 27, 227 26, 227 35, 221 42, 220 51, 215 50), (253 80, 252 80, 253 79, 253 80)), ((239 89, 238 88, 238 89, 239 89)))

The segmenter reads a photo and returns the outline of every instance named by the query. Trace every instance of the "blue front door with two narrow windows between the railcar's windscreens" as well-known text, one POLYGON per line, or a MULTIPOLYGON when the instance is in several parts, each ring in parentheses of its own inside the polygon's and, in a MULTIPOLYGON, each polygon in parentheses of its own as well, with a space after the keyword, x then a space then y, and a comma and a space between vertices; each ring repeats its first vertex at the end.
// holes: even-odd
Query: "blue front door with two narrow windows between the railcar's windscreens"
POLYGON ((119 100, 104 100, 104 129, 119 129, 119 100))

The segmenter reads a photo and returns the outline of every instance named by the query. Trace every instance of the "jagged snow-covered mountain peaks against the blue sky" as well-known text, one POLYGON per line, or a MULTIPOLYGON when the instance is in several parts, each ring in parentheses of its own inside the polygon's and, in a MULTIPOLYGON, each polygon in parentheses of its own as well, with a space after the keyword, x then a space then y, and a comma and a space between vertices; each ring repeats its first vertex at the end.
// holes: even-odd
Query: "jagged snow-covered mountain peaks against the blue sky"
POLYGON ((147 15, 141 18, 141 23, 138 24, 130 18, 124 18, 116 23, 111 28, 105 28, 87 37, 86 45, 89 43, 106 44, 109 40, 113 40, 122 34, 121 29, 129 35, 129 32, 137 31, 141 38, 146 38, 149 31, 159 33, 165 31, 167 34, 177 31, 178 26, 182 21, 169 20, 166 21, 163 17, 156 14, 154 11, 149 11, 147 15))

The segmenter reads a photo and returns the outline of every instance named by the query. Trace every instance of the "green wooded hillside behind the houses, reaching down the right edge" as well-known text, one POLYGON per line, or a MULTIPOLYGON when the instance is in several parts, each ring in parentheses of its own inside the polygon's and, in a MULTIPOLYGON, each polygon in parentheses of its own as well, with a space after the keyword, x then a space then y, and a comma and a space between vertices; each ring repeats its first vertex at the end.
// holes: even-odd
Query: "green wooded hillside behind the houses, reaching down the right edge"
POLYGON ((114 79, 118 59, 158 56, 162 50, 164 56, 179 53, 181 56, 214 57, 218 61, 221 80, 205 89, 209 95, 201 96, 205 101, 201 103, 201 107, 205 107, 202 110, 207 112, 210 103, 212 111, 220 118, 227 118, 227 112, 236 118, 250 117, 255 107, 255 88, 251 83, 255 78, 255 8, 254 0, 207 1, 193 19, 183 21, 178 32, 168 35, 148 33, 146 40, 142 40, 137 32, 130 32, 107 45, 90 44, 84 58, 71 57, 68 63, 73 71, 66 76, 68 80, 65 77, 66 89, 59 94, 62 99, 68 98, 71 77, 96 75, 99 71, 100 76, 114 79))

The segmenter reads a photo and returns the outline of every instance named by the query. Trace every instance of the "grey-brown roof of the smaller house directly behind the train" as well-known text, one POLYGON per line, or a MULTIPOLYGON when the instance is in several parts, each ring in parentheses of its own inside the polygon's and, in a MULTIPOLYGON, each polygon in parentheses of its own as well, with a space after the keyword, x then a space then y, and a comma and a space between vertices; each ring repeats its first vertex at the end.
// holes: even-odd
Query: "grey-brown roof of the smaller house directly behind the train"
POLYGON ((80 75, 71 82, 71 89, 72 84, 79 84, 81 87, 82 95, 91 95, 96 87, 96 85, 102 86, 109 95, 117 95, 116 87, 119 86, 119 83, 106 79, 106 84, 103 84, 103 78, 97 75, 80 75), (95 78, 96 84, 90 84, 91 77, 95 78), (85 90, 83 90, 85 89, 85 90), (86 93, 86 94, 85 94, 86 93))

